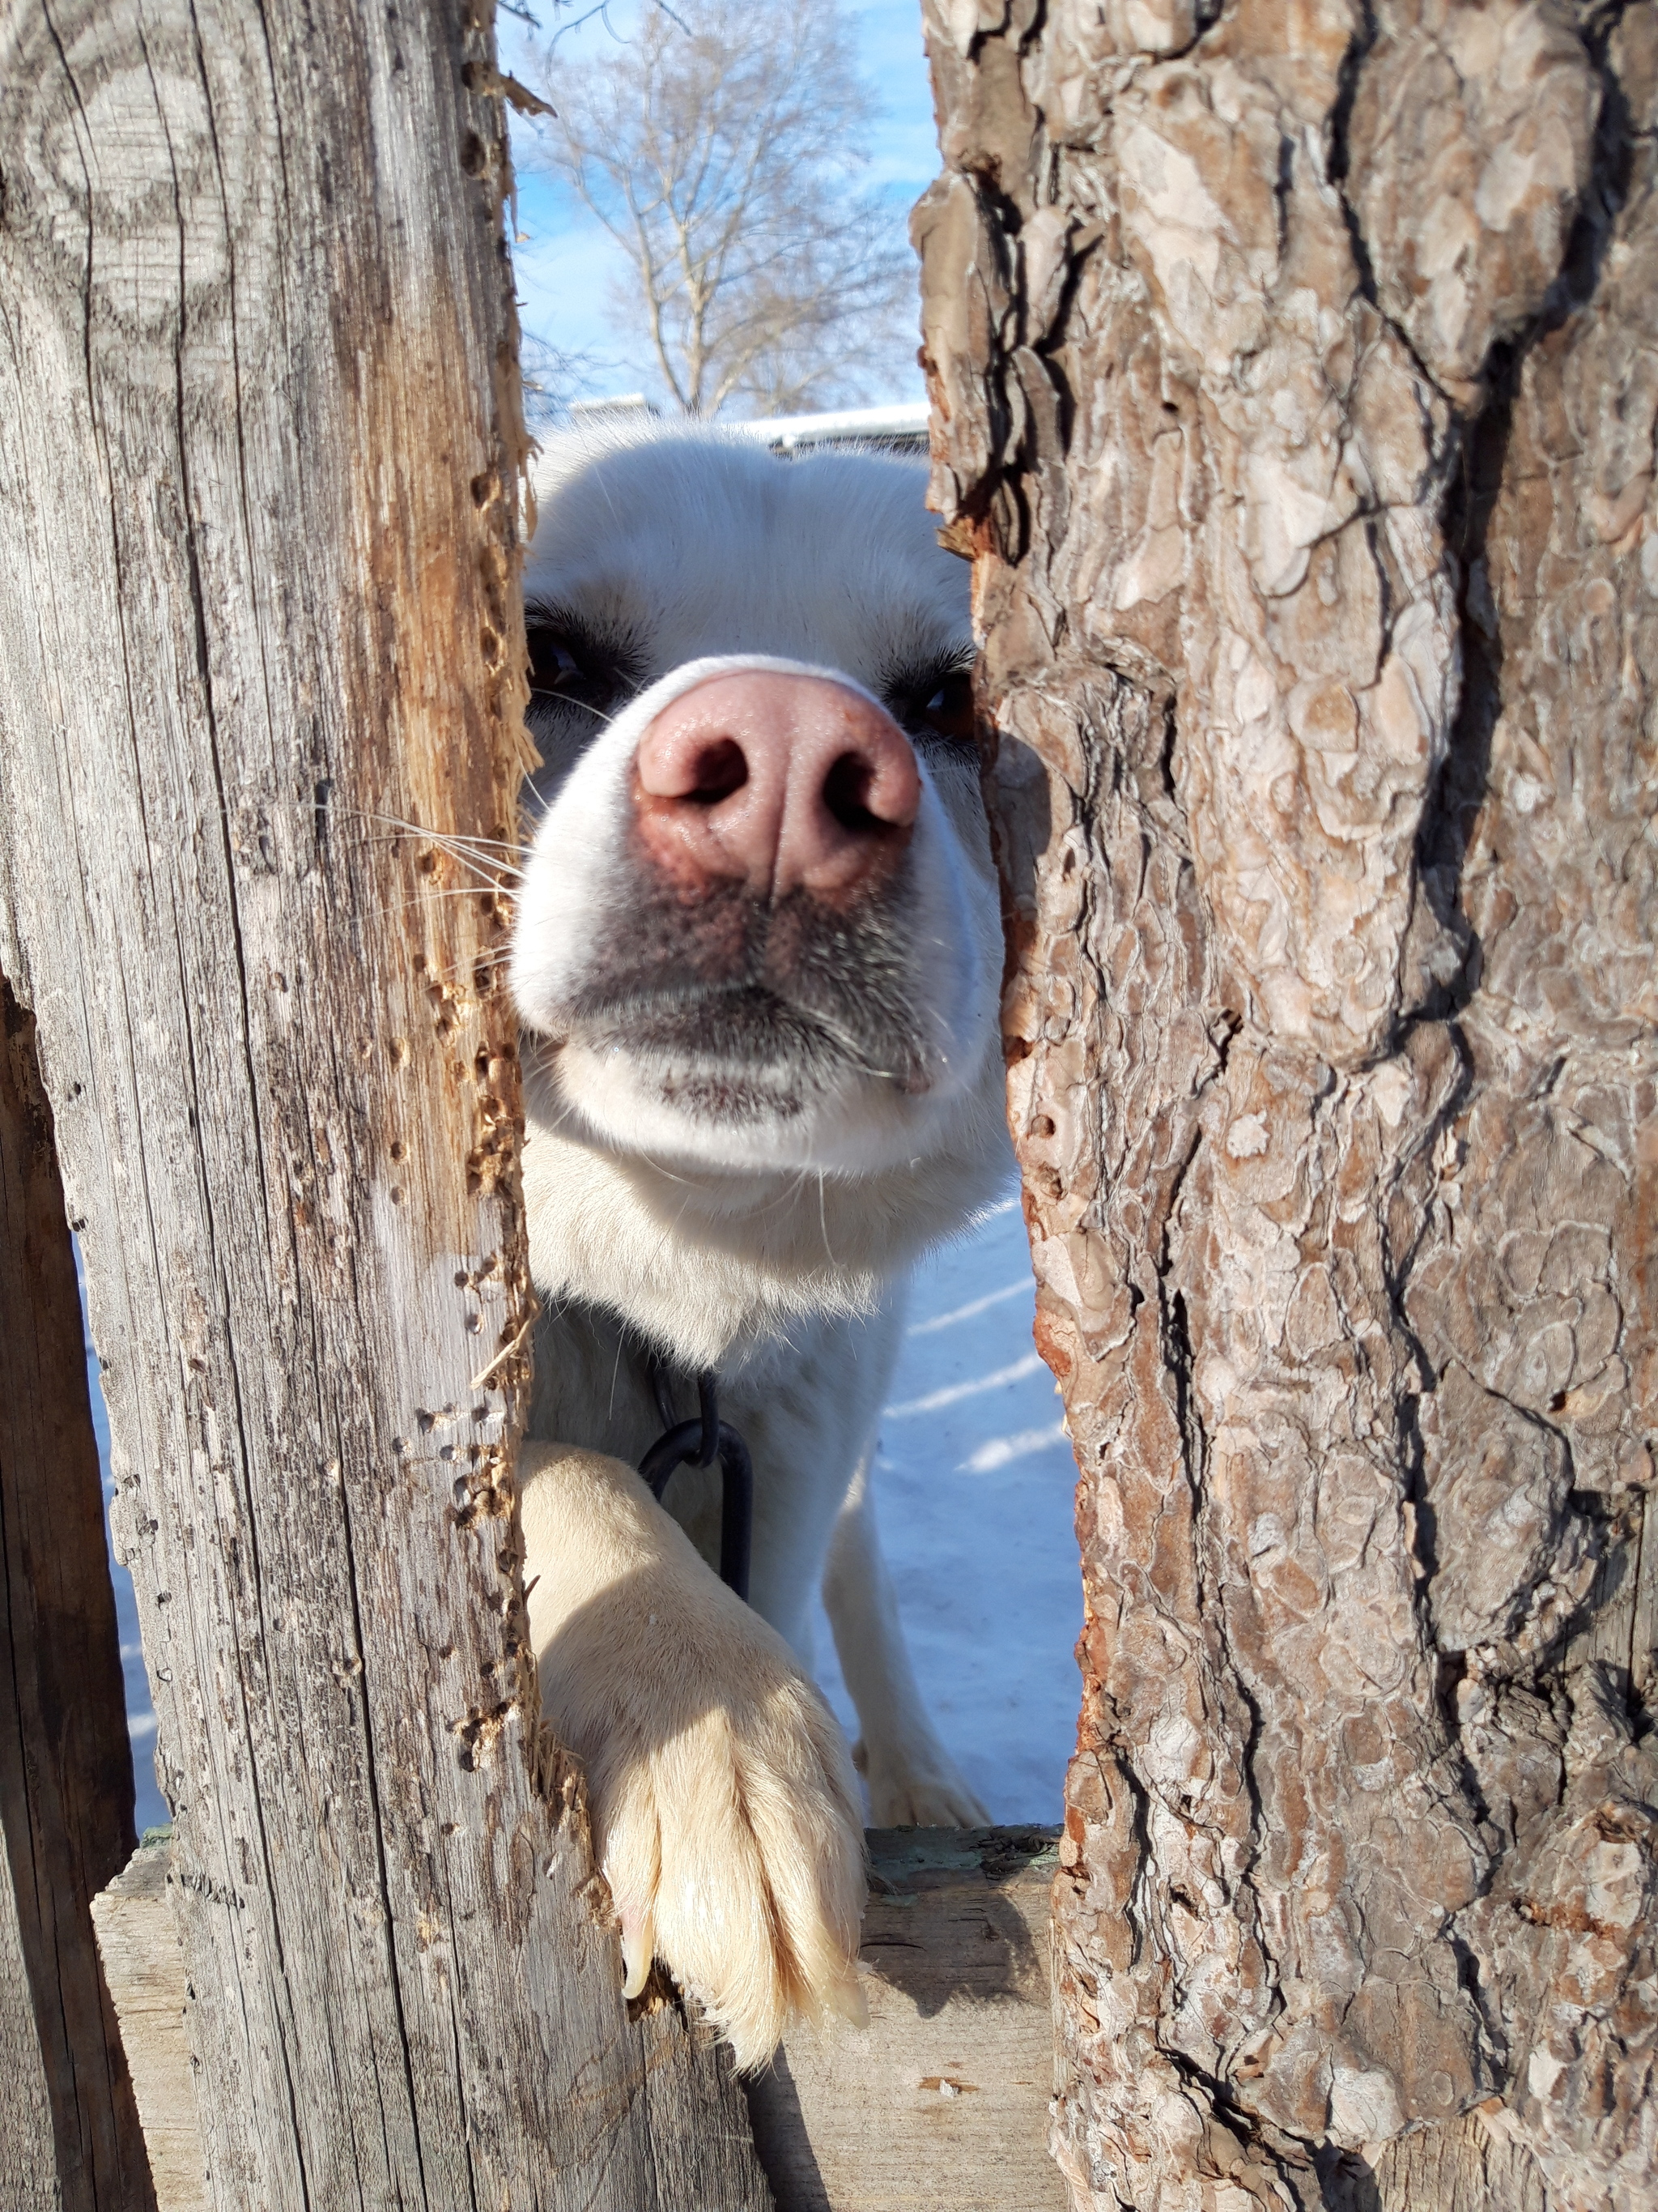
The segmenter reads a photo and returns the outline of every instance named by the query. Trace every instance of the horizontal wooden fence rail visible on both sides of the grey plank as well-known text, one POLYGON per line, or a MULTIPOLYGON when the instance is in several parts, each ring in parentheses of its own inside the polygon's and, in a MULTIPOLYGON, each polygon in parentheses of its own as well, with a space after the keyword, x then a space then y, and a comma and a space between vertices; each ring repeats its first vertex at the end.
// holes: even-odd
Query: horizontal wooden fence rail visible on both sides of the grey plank
MULTIPOLYGON (((1063 2205, 1046 2150, 1057 1836, 1050 1827, 869 1832, 869 2028, 798 2028, 749 2084, 778 2212, 1063 2205)), ((146 1836, 93 1900, 93 1924, 157 2212, 201 2212, 208 2192, 168 1851, 166 1829, 146 1836)))

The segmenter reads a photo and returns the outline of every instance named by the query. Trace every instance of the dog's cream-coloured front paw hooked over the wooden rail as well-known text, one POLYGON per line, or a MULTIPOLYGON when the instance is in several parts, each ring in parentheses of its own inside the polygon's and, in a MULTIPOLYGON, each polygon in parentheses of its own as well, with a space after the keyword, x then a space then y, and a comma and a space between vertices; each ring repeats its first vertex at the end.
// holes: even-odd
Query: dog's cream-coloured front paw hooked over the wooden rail
POLYGON ((864 1836, 833 1714, 632 1469, 526 1444, 522 1478, 542 1701, 588 1774, 628 1995, 661 1958, 743 2068, 798 2013, 860 2022, 864 1836))

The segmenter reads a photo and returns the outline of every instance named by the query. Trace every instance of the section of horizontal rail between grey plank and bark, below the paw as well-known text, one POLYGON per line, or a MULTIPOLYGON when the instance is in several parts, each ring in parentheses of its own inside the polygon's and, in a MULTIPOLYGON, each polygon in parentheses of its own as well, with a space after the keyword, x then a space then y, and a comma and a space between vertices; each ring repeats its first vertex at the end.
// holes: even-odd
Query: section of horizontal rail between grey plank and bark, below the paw
POLYGON ((749 2084, 778 2212, 1057 2212, 1052 1829, 871 1829, 869 2031, 785 2039, 749 2084))

